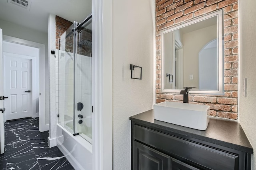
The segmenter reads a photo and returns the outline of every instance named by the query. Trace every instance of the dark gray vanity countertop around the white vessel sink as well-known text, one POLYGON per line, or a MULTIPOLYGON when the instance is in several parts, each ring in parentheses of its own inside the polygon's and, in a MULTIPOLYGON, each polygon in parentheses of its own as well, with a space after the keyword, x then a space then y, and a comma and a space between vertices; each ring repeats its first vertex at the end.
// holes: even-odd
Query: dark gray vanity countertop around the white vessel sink
POLYGON ((253 153, 252 145, 240 123, 234 120, 210 117, 208 128, 205 131, 155 120, 153 109, 131 116, 130 120, 216 145, 253 153))

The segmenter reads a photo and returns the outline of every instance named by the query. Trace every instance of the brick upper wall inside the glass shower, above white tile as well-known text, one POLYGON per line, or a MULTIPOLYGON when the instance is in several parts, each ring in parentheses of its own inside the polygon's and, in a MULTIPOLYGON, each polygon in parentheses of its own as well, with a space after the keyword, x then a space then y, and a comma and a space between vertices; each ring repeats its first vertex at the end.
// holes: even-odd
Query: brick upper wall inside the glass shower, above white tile
MULTIPOLYGON (((71 32, 73 28, 70 28, 70 26, 73 24, 72 22, 65 20, 59 16, 56 16, 56 49, 60 49, 60 36, 67 31, 67 33, 71 32)), ((92 42, 92 31, 89 29, 83 29, 83 31, 78 33, 78 42, 88 40, 92 42)), ((73 34, 71 34, 66 39, 66 51, 73 53, 73 34)), ((90 57, 90 54, 92 53, 91 47, 86 47, 84 45, 78 44, 78 54, 80 55, 86 55, 90 57)))

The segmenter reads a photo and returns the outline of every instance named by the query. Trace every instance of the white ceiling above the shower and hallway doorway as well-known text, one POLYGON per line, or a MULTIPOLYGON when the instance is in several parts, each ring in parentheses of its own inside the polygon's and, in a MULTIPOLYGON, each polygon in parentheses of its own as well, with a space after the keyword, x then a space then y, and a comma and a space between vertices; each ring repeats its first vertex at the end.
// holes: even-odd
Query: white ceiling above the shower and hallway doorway
POLYGON ((68 21, 81 22, 92 12, 92 0, 26 0, 30 10, 0 0, 0 20, 48 32, 48 16, 54 14, 68 21))

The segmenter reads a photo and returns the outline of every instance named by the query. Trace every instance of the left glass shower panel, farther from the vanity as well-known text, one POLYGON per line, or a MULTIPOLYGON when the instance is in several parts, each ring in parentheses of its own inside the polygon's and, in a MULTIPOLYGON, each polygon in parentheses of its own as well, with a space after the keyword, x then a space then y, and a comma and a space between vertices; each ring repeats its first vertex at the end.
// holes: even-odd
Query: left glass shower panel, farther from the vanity
POLYGON ((74 134, 74 23, 59 39, 56 57, 56 111, 58 123, 74 134))

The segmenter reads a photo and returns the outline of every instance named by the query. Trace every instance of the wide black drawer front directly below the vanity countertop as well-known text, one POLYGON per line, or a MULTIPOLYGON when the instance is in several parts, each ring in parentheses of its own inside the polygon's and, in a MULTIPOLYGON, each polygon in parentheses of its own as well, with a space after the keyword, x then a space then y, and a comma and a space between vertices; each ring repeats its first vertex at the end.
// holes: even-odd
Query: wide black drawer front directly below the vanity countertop
POLYGON ((244 167, 244 162, 242 159, 239 160, 239 155, 224 150, 200 145, 139 125, 134 125, 133 134, 134 139, 145 143, 145 145, 164 150, 166 153, 177 155, 208 169, 238 170, 239 166, 244 167))

